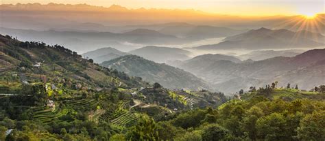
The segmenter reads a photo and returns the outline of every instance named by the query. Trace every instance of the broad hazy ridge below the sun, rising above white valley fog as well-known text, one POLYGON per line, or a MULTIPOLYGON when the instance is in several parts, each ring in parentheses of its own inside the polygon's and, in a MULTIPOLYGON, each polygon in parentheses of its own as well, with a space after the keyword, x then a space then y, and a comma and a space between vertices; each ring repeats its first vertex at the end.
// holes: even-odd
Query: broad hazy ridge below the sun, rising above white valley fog
POLYGON ((226 37, 224 42, 195 47, 200 50, 216 49, 281 49, 281 48, 311 48, 324 46, 324 36, 309 31, 289 31, 287 29, 253 29, 245 33, 226 37))

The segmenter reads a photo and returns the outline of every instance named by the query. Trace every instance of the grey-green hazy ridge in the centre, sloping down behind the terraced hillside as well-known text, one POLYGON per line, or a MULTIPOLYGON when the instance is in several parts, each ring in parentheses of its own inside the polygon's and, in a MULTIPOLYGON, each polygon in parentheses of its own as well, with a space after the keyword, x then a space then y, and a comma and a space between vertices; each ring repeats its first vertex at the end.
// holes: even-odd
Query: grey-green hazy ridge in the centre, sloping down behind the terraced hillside
POLYGON ((136 55, 126 55, 101 65, 125 72, 130 76, 139 76, 147 82, 159 82, 169 89, 209 89, 208 84, 189 72, 171 67, 165 63, 155 63, 136 55))

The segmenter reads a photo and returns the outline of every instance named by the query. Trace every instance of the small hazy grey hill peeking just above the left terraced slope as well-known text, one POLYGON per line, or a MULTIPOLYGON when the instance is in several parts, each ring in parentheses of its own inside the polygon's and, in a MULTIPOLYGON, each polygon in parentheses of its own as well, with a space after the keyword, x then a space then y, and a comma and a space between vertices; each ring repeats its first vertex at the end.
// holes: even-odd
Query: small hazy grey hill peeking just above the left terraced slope
POLYGON ((89 59, 93 59, 95 63, 102 63, 104 61, 109 61, 111 59, 115 59, 126 54, 128 53, 121 52, 120 50, 117 50, 115 48, 108 47, 85 52, 84 54, 82 54, 82 57, 88 57, 89 59))

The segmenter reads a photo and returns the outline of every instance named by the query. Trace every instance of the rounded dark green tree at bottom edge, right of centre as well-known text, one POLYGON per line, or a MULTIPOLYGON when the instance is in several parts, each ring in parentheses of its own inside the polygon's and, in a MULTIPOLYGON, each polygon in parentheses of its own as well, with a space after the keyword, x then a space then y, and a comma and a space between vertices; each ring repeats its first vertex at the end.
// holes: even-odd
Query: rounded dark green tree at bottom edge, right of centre
POLYGON ((206 125, 202 132, 202 140, 206 141, 228 140, 231 136, 228 129, 217 124, 206 125))

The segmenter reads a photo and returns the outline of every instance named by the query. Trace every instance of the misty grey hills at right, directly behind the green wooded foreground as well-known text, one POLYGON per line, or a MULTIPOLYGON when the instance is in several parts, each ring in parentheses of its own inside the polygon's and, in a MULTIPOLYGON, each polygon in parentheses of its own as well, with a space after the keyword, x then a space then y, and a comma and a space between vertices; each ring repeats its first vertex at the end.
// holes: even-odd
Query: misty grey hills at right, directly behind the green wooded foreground
MULTIPOLYGON (((300 89, 311 89, 317 84, 325 84, 324 54, 325 49, 315 49, 298 54, 296 57, 274 57, 262 61, 190 59, 174 65, 195 74, 224 92, 234 92, 250 86, 263 87, 263 84, 274 81, 278 81, 283 87, 290 83, 298 84, 301 86, 300 89)), ((207 55, 207 58, 212 57, 207 55)))

